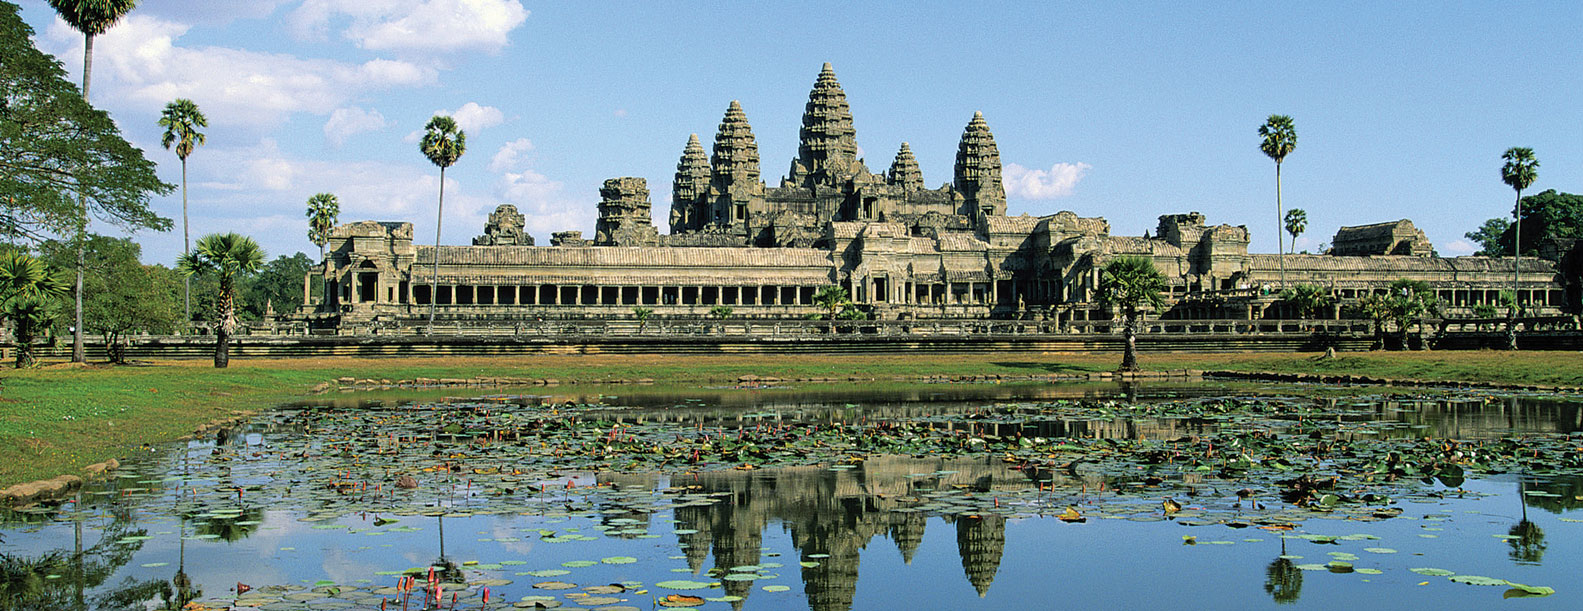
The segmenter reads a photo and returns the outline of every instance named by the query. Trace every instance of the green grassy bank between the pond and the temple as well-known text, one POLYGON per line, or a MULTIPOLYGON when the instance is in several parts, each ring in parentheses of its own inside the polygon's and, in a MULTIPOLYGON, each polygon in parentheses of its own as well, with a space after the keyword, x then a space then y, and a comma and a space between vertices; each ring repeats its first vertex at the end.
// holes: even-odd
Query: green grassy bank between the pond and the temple
MULTIPOLYGON (((564 383, 652 378, 657 383, 735 380, 739 375, 874 377, 1029 375, 1111 370, 1114 355, 730 355, 533 356, 445 359, 206 361, 138 367, 52 366, 0 374, 0 486, 79 473, 125 457, 144 443, 174 440, 217 418, 302 399, 313 386, 356 378, 556 378, 564 383)), ((1314 355, 1145 355, 1149 369, 1366 374, 1387 378, 1521 385, 1583 385, 1583 353, 1366 353, 1317 361, 1314 355)))

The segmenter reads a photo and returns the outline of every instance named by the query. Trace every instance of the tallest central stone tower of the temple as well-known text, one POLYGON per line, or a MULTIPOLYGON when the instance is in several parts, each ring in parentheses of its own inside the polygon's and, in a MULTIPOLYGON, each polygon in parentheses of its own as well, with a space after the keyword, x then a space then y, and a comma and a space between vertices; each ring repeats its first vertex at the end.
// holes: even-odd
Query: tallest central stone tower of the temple
POLYGON ((841 90, 836 71, 825 62, 807 93, 803 128, 798 131, 796 161, 788 179, 798 185, 833 185, 852 174, 858 158, 858 130, 852 127, 847 92, 841 90))

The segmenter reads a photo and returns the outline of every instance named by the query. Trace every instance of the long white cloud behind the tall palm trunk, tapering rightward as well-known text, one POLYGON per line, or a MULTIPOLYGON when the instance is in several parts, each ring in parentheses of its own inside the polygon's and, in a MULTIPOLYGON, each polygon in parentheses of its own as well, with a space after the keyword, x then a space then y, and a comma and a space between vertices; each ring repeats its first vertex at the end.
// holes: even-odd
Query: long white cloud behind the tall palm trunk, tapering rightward
MULTIPOLYGON (((93 40, 93 82, 146 111, 192 98, 211 122, 269 125, 293 112, 329 114, 364 92, 435 79, 432 68, 386 59, 350 63, 218 46, 184 47, 177 40, 188 28, 154 16, 128 16, 93 40)), ((82 36, 76 30, 57 17, 46 35, 68 66, 82 65, 82 36)))

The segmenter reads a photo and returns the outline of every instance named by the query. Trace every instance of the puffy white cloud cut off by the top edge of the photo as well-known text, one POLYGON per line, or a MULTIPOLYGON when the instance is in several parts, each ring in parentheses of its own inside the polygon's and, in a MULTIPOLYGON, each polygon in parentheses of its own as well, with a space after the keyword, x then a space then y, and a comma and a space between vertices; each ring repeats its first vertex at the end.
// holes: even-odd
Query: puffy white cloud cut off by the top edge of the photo
POLYGON ((527 14, 518 0, 307 0, 288 21, 299 36, 325 40, 350 17, 340 35, 372 51, 497 52, 527 14))

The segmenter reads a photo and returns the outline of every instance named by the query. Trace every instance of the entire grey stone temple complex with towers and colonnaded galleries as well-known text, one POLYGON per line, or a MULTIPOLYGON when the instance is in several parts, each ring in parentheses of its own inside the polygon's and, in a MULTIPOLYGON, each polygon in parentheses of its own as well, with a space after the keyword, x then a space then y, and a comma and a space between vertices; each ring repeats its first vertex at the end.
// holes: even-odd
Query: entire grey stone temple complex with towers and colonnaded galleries
MULTIPOLYGON (((418 321, 434 301, 438 320, 457 323, 630 318, 635 309, 701 317, 719 306, 733 317, 804 318, 822 287, 839 285, 880 320, 1108 320, 1094 291, 1100 268, 1121 255, 1152 258, 1170 280, 1164 318, 1292 315, 1274 294, 1277 255, 1249 253, 1243 225, 1165 214, 1140 237, 1072 212, 1007 215, 1000 154, 978 112, 962 128, 951 180, 937 188, 924 187, 907 142, 883 173, 858 158, 852 109, 828 63, 799 136, 771 187, 747 112, 731 101, 709 150, 697 135, 682 147, 663 234, 641 177, 605 180, 594 236, 562 231, 549 245, 535 245, 513 206, 491 214, 472 245, 415 244, 412 223, 340 225, 309 282, 328 280, 328 299, 302 315, 317 326, 418 321)), ((1510 258, 1436 256, 1407 220, 1344 226, 1331 244, 1287 255, 1287 285, 1317 283, 1346 304, 1398 279, 1425 280, 1447 315, 1496 304, 1512 287, 1510 258)), ((1534 313, 1578 299, 1551 261, 1521 260, 1521 283, 1534 313)))

